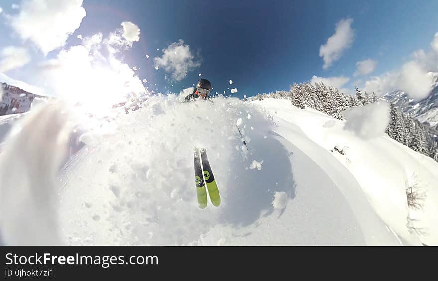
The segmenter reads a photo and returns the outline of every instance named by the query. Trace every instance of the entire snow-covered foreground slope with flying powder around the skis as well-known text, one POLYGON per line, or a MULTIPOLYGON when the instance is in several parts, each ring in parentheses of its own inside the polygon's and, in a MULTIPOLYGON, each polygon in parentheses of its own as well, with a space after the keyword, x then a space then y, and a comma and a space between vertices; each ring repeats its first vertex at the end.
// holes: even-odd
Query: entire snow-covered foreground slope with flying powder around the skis
POLYGON ((438 245, 430 157, 290 100, 213 101, 157 96, 122 109, 79 136, 85 146, 62 168, 73 131, 64 107, 41 105, 8 129, 0 122, 10 132, 0 153, 3 243, 438 245), (198 207, 194 146, 207 149, 219 207, 198 207))

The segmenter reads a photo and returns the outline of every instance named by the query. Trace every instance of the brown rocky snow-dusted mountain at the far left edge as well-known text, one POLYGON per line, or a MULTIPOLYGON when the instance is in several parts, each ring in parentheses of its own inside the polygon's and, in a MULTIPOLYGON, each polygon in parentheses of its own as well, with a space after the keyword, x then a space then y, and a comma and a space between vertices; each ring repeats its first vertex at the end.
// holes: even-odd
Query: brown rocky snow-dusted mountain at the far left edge
POLYGON ((21 88, 1 83, 2 98, 0 98, 0 116, 13 113, 24 113, 30 110, 35 98, 45 99, 46 97, 32 94, 21 88))

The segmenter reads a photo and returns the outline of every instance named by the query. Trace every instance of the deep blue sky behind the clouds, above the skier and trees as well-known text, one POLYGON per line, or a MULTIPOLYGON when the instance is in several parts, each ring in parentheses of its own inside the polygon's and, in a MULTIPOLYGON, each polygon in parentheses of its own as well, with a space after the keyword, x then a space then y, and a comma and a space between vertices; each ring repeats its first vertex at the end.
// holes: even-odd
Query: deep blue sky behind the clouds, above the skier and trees
MULTIPOLYGON (((55 58, 62 48, 45 57, 38 48, 24 42, 8 25, 5 14, 19 11, 3 0, 0 6, 0 49, 8 45, 29 46, 32 60, 26 66, 6 72, 15 79, 38 83, 32 78, 34 66, 55 58), (5 40, 4 38, 7 38, 5 40)), ((251 96, 261 92, 288 90, 295 82, 312 76, 348 77, 343 87, 381 75, 400 67, 420 48, 428 50, 438 31, 438 1, 364 1, 312 0, 291 1, 205 1, 205 0, 84 0, 87 15, 64 48, 80 44, 78 34, 104 35, 130 21, 141 30, 140 40, 124 55, 129 66, 138 66, 138 76, 164 93, 176 92, 196 83, 198 73, 209 79, 218 91, 231 95, 227 87, 238 89, 233 96, 251 96), (323 69, 320 46, 335 33, 336 23, 352 19, 354 39, 340 58, 323 69), (166 72, 155 70, 153 58, 182 39, 201 62, 181 81, 164 78, 166 72), (159 49, 159 51, 157 51, 159 49), (145 54, 150 58, 146 59, 145 54), (198 56, 196 55, 198 54, 198 56), (372 59, 375 69, 367 75, 353 76, 356 63, 372 59), (229 85, 229 79, 233 85, 229 85), (173 85, 173 87, 171 86, 173 85)), ((74 79, 74 78, 72 78, 74 79)))

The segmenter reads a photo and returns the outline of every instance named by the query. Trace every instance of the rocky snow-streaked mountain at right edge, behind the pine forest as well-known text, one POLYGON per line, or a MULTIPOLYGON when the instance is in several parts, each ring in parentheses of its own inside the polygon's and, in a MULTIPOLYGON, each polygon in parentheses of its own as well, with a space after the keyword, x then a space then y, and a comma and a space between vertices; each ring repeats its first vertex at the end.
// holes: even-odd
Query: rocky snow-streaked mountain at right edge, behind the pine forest
POLYGON ((403 91, 393 91, 384 95, 384 98, 393 102, 403 113, 410 113, 420 122, 428 122, 438 131, 438 73, 434 74, 436 82, 431 94, 421 100, 414 101, 403 91))

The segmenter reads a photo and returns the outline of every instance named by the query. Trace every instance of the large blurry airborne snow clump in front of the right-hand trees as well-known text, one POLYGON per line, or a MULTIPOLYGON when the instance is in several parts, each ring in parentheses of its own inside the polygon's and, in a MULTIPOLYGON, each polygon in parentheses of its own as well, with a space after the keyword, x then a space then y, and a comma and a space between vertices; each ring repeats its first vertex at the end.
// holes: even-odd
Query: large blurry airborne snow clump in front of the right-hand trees
POLYGON ((364 140, 379 137, 389 124, 389 104, 378 102, 363 107, 353 107, 344 112, 347 122, 344 130, 353 132, 364 140))

